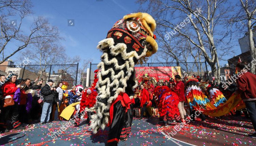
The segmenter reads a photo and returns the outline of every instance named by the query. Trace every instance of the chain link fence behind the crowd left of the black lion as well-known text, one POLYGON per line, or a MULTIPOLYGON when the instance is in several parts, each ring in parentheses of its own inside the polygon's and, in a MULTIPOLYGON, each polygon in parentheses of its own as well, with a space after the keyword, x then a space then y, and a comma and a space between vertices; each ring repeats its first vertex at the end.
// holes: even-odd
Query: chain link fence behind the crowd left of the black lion
POLYGON ((77 74, 78 74, 77 64, 72 65, 12 65, 12 66, 0 66, 0 74, 8 74, 13 72, 17 75, 18 79, 29 78, 35 80, 39 77, 39 80, 43 80, 43 85, 52 79, 55 81, 54 86, 58 84, 59 81, 67 81, 69 86, 77 85, 77 74))

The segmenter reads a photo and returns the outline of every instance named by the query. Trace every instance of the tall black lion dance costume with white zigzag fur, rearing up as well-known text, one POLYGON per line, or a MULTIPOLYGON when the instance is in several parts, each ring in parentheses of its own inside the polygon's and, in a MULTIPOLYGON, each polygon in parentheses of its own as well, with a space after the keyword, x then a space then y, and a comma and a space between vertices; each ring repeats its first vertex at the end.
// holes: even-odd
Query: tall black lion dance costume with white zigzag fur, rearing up
POLYGON ((92 111, 93 132, 110 126, 108 144, 117 145, 126 111, 138 86, 134 65, 157 52, 155 20, 147 13, 133 13, 118 20, 97 48, 103 52, 98 64, 97 101, 92 111), (132 78, 133 77, 133 78, 132 78))

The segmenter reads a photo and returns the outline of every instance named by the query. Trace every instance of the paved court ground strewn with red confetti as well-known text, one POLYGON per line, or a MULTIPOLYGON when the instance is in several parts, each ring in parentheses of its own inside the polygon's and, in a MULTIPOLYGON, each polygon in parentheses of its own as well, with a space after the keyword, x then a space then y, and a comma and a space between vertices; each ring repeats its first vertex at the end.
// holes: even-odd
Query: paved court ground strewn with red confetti
MULTIPOLYGON (((207 118, 201 122, 185 125, 175 134, 174 126, 157 125, 158 117, 137 120, 132 123, 132 134, 119 146, 219 146, 219 145, 256 145, 256 139, 247 136, 254 130, 245 117, 226 116, 222 119, 207 118), (172 136, 171 132, 174 133, 172 136), (169 133, 169 134, 168 134, 169 133), (168 136, 169 135, 169 136, 168 136), (171 137, 170 137, 171 136, 171 137)), ((60 129, 67 121, 53 121, 46 125, 30 125, 26 131, 10 131, 1 134, 0 145, 43 145, 43 146, 104 146, 108 129, 92 134, 91 129, 82 122, 80 127, 69 127, 56 140, 51 138, 54 131, 60 129), (15 133, 16 132, 16 133, 15 133), (18 133, 17 133, 18 132, 18 133), (9 134, 9 135, 8 135, 9 134)))

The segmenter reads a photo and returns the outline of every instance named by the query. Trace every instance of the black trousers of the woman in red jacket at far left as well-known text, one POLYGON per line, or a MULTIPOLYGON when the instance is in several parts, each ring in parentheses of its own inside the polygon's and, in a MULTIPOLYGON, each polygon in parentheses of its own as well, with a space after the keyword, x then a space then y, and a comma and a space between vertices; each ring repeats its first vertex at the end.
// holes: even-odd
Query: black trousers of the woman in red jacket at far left
POLYGON ((2 108, 3 111, 1 111, 2 114, 2 121, 4 124, 6 124, 6 121, 9 117, 9 115, 12 115, 12 126, 13 128, 17 128, 21 123, 19 122, 19 107, 18 104, 14 104, 13 106, 8 106, 2 108))

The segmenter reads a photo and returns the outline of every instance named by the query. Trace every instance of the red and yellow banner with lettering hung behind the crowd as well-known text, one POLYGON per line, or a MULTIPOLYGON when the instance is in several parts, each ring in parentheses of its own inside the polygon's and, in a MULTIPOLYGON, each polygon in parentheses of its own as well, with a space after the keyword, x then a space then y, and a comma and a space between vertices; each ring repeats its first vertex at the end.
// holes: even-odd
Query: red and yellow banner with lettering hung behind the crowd
POLYGON ((170 78, 174 79, 175 75, 181 76, 181 67, 135 67, 136 77, 148 74, 157 81, 165 81, 170 78))

